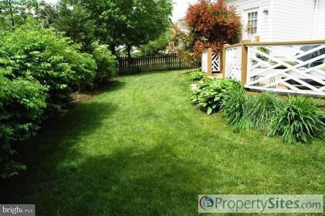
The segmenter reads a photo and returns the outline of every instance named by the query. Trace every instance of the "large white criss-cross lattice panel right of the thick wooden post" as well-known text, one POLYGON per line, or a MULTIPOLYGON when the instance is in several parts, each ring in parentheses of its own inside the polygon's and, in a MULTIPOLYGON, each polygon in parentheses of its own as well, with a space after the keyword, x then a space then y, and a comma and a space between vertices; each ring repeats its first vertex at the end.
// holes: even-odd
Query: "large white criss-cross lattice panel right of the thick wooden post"
POLYGON ((246 88, 325 96, 325 42, 246 47, 246 88))

